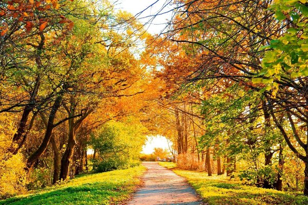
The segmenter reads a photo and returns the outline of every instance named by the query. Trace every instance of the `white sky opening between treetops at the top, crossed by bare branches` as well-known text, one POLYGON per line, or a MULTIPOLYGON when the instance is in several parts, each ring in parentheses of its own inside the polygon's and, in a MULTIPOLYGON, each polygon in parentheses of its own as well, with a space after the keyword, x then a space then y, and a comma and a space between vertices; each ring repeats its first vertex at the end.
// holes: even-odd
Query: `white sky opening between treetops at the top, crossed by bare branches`
MULTIPOLYGON (((138 14, 139 12, 145 10, 147 7, 155 3, 157 0, 119 0, 117 2, 117 9, 128 11, 129 13, 132 13, 133 15, 138 14)), ((157 14, 161 8, 164 7, 165 4, 169 3, 168 0, 158 0, 157 3, 155 3, 152 7, 145 10, 140 17, 145 17, 153 14, 157 14)), ((160 13, 166 12, 170 10, 170 7, 165 7, 160 13)), ((166 27, 166 23, 171 18, 171 12, 163 15, 156 16, 150 25, 148 25, 148 32, 152 34, 159 34, 164 28, 166 27)), ((140 22, 146 23, 148 22, 149 18, 142 18, 140 19, 140 22)))

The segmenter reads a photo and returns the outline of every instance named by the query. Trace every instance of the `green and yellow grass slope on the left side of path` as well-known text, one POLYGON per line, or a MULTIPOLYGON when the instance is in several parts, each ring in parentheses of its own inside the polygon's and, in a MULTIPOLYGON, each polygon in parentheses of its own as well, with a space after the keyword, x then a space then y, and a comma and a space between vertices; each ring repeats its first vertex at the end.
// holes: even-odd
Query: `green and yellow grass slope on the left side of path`
POLYGON ((47 187, 0 204, 121 204, 140 184, 143 166, 74 178, 64 185, 47 187))

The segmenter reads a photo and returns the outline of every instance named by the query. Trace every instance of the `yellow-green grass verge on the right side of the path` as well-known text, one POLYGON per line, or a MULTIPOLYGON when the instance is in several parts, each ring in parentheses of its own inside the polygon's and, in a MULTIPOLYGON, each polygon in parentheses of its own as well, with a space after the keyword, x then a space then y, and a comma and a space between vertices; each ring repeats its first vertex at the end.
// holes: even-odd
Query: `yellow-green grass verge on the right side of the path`
POLYGON ((176 174, 186 178, 209 205, 308 204, 308 197, 299 193, 245 186, 240 181, 230 181, 226 176, 209 177, 205 172, 180 170, 172 162, 160 162, 160 165, 172 169, 176 174))

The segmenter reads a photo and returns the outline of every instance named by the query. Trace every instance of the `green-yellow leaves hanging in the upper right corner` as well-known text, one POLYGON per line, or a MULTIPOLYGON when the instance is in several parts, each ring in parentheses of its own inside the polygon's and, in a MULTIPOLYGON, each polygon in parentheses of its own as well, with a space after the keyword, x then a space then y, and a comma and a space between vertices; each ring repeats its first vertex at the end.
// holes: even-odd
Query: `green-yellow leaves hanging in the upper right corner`
MULTIPOLYGON (((281 75, 297 78, 308 74, 308 28, 306 18, 308 16, 308 7, 304 5, 306 2, 306 0, 299 2, 278 0, 271 7, 279 21, 288 19, 294 24, 288 24, 293 25, 293 27, 288 28, 281 37, 271 40, 271 44, 266 46, 266 48, 271 48, 272 50, 265 52, 262 59, 263 69, 259 76, 278 79, 277 76, 281 75), (283 73, 281 73, 282 71, 283 73)), ((284 24, 284 22, 282 23, 284 24)), ((272 80, 260 81, 255 79, 253 83, 273 83, 272 80)))

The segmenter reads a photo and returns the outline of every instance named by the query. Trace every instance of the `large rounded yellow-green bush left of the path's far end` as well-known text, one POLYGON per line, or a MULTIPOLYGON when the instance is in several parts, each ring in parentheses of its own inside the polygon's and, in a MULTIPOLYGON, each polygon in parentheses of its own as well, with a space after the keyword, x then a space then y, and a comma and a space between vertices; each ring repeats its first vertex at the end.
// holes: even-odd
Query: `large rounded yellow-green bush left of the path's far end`
POLYGON ((91 136, 90 144, 97 150, 93 170, 107 172, 140 165, 139 153, 144 142, 142 129, 121 122, 109 122, 91 136))

